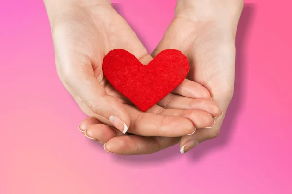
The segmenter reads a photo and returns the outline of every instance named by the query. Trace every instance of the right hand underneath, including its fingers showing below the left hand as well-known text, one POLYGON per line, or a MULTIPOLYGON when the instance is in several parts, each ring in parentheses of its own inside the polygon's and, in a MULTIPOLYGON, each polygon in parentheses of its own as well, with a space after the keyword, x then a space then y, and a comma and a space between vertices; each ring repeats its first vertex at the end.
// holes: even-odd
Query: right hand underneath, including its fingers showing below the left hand
POLYGON ((243 0, 178 0, 175 18, 152 53, 178 49, 188 57, 191 71, 188 79, 207 88, 222 109, 210 129, 199 129, 182 138, 123 135, 87 118, 81 126, 85 135, 99 140, 106 151, 116 154, 149 154, 180 142, 181 153, 219 135, 227 107, 233 96, 235 35, 243 0))

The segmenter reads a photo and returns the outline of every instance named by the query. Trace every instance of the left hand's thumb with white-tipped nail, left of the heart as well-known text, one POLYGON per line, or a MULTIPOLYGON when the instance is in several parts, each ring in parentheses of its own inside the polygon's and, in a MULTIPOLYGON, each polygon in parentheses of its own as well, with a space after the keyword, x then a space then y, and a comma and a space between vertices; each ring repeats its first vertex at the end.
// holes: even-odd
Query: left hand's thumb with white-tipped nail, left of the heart
POLYGON ((121 132, 127 132, 130 118, 124 105, 117 98, 106 93, 95 78, 91 66, 84 65, 81 70, 71 68, 70 73, 67 72, 65 75, 62 78, 65 84, 93 113, 110 120, 121 132))

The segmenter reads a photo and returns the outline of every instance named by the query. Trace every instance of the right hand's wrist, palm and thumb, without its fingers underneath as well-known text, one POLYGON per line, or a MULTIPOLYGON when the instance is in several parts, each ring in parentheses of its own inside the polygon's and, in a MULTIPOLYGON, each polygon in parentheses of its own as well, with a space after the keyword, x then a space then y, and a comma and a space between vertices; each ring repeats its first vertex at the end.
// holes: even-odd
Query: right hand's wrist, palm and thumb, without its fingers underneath
POLYGON ((218 136, 234 90, 235 35, 243 0, 178 0, 172 21, 153 55, 181 50, 189 59, 188 79, 206 87, 222 115, 211 129, 197 129, 180 141, 181 153, 218 136))

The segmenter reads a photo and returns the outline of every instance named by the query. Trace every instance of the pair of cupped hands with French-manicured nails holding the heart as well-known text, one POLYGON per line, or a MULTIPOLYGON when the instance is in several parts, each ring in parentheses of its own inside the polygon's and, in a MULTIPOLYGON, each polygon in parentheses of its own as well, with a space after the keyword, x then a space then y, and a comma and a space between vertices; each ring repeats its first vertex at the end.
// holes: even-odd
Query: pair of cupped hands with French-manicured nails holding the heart
POLYGON ((57 72, 89 116, 79 127, 87 137, 103 143, 106 151, 133 155, 178 142, 184 153, 219 134, 233 95, 242 0, 178 0, 175 18, 151 55, 109 0, 45 0, 45 5, 57 72), (188 57, 190 72, 143 113, 103 76, 103 57, 112 49, 125 49, 145 65, 160 51, 177 49, 188 57))

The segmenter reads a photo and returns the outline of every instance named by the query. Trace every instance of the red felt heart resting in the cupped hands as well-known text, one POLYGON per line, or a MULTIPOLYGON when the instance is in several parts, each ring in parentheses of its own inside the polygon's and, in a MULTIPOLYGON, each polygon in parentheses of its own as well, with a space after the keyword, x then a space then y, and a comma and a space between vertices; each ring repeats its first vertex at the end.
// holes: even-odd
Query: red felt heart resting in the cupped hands
POLYGON ((187 57, 174 49, 161 51, 148 65, 126 50, 114 49, 102 67, 108 81, 144 112, 182 83, 190 68, 187 57))

